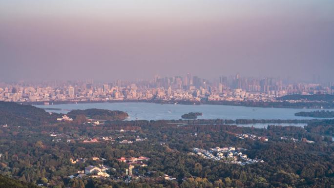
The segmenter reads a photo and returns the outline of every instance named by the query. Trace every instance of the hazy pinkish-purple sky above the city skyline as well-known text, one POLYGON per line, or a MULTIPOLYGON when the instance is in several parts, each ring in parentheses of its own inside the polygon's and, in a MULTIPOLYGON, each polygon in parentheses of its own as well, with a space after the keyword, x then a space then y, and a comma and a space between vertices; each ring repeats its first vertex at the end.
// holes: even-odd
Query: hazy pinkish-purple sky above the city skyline
POLYGON ((334 81, 334 0, 0 0, 0 81, 334 81))

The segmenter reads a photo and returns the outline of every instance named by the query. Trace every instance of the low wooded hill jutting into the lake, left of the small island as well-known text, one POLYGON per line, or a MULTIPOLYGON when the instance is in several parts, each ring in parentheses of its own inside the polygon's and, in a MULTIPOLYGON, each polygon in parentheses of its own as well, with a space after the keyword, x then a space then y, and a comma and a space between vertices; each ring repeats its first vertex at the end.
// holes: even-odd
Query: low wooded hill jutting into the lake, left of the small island
POLYGON ((104 109, 85 109, 85 110, 72 110, 68 112, 69 116, 75 118, 77 115, 85 115, 87 118, 95 120, 125 120, 128 114, 118 110, 104 110, 104 109))

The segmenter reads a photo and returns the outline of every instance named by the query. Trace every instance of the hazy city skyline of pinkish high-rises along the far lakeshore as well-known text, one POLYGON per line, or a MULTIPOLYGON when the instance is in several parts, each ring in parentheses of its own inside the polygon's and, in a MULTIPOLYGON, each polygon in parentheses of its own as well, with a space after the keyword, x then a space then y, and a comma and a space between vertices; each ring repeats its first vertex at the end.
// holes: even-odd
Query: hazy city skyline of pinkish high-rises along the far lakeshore
POLYGON ((280 102, 286 95, 334 94, 328 85, 289 84, 279 78, 243 78, 220 76, 218 81, 192 76, 159 77, 135 82, 43 81, 36 83, 0 83, 0 101, 28 103, 151 101, 169 103, 280 102))

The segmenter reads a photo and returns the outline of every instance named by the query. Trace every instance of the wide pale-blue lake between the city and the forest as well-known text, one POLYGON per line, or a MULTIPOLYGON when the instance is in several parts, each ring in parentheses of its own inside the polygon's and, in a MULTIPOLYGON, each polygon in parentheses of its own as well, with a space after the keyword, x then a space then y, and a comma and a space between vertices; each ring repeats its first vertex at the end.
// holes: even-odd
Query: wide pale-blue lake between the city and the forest
MULTIPOLYGON (((54 104, 35 105, 47 109, 47 112, 67 113, 73 109, 99 108, 109 110, 121 110, 129 114, 127 120, 178 120, 181 115, 189 112, 202 112, 199 119, 314 119, 311 117, 294 116, 300 111, 312 111, 314 109, 294 108, 263 108, 229 105, 184 105, 184 104, 155 104, 155 103, 87 103, 87 104, 54 104), (61 110, 56 110, 59 108, 61 110)), ((304 124, 302 124, 304 125, 304 124)), ((261 127, 263 127, 261 125, 261 127)))

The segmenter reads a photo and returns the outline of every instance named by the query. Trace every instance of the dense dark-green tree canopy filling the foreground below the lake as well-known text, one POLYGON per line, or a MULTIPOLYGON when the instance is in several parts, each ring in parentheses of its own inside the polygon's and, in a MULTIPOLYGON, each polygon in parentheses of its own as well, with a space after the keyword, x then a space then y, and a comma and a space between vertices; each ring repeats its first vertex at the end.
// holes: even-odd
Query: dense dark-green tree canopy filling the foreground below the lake
MULTIPOLYGON (((308 121, 305 128, 225 125, 235 122, 232 120, 106 121, 93 126, 85 122, 85 116, 57 122, 59 114, 34 111, 32 106, 14 106, 13 112, 33 108, 31 119, 50 119, 25 124, 18 121, 24 115, 16 115, 18 120, 13 121, 17 123, 6 120, 8 126, 0 127, 0 174, 27 185, 48 184, 50 188, 331 188, 334 185, 334 145, 323 134, 333 128, 333 120, 308 121), (268 142, 238 137, 242 134, 266 137, 268 142), (93 138, 97 142, 84 142, 93 138), (133 143, 123 144, 123 140, 133 143), (242 147, 248 157, 264 162, 236 165, 192 154, 193 147, 217 146, 242 147), (145 162, 146 167, 135 165, 134 173, 142 175, 141 178, 125 182, 128 165, 117 161, 123 156, 150 158, 145 162), (104 160, 92 160, 93 157, 104 160), (86 160, 72 164, 70 158, 86 160), (99 164, 115 168, 108 171, 110 178, 68 177, 88 165, 99 164), (175 180, 166 180, 164 174, 175 180)), ((24 113, 29 112, 14 114, 24 113)))

